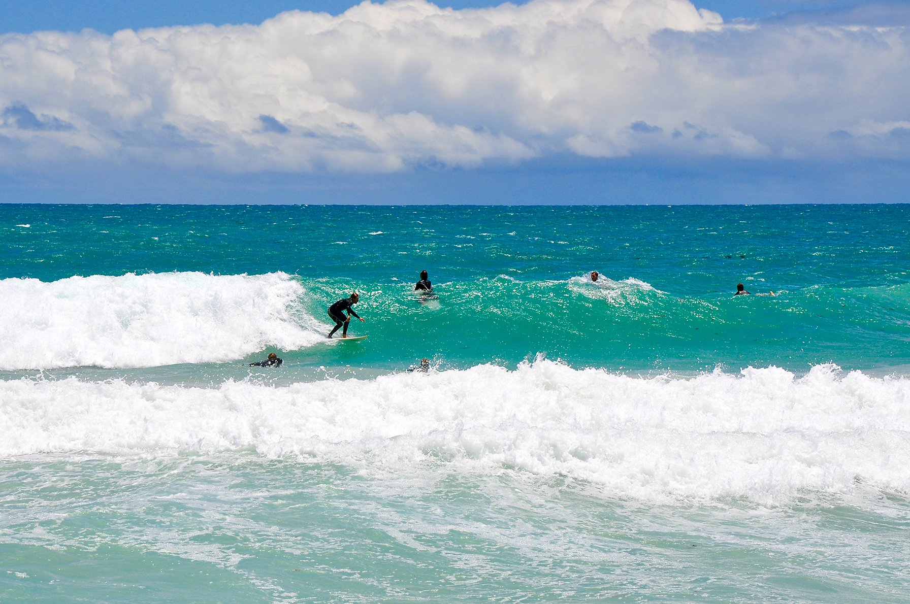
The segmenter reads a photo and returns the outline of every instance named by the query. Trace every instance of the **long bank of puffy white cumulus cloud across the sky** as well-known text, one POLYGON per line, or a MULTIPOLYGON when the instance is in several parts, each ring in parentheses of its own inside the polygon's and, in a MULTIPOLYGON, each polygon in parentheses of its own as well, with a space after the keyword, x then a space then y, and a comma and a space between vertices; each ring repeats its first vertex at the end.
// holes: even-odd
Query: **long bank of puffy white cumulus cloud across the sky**
POLYGON ((574 153, 910 153, 903 26, 686 0, 364 2, 261 25, 0 36, 0 165, 393 172, 574 153))

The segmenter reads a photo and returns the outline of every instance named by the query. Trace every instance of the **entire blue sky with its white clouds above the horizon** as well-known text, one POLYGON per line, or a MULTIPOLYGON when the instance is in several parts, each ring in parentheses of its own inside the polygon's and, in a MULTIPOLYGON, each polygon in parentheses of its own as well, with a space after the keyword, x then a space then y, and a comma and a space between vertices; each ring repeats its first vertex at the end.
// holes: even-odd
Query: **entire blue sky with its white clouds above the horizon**
POLYGON ((0 0, 0 201, 910 202, 908 2, 136 4, 0 0))

